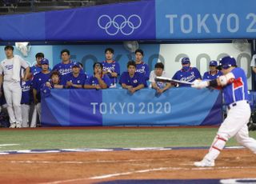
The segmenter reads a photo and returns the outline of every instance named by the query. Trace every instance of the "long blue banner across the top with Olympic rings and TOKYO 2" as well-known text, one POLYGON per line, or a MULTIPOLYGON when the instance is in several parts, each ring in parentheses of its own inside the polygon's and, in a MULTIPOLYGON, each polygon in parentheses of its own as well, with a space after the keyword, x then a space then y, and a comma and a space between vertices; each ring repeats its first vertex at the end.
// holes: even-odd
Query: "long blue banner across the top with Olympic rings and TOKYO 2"
POLYGON ((254 0, 147 0, 0 16, 0 41, 255 38, 254 0))

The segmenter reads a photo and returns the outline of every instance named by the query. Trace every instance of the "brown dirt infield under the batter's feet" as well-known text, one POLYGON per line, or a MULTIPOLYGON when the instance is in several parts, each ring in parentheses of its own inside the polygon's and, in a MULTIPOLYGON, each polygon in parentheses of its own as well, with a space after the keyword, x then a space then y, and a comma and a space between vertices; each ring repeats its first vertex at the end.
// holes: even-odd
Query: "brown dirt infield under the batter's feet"
POLYGON ((0 156, 0 183, 97 183, 117 179, 256 178, 256 155, 226 149, 214 168, 196 168, 207 150, 148 150, 0 156))

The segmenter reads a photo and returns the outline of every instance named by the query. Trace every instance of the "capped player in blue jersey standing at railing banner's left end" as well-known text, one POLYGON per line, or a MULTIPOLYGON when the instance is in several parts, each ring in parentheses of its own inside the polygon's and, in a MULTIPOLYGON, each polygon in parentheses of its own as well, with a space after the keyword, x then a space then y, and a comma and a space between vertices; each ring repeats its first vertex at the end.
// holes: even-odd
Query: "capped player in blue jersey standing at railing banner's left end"
MULTIPOLYGON (((41 87, 44 83, 47 81, 50 81, 50 70, 49 70, 49 61, 46 58, 43 58, 41 60, 42 64, 42 71, 36 74, 32 81, 32 87, 33 87, 33 97, 34 97, 34 104, 36 106, 36 109, 38 111, 39 120, 41 122, 41 87)), ((31 127, 35 127, 34 123, 31 122, 31 127)))

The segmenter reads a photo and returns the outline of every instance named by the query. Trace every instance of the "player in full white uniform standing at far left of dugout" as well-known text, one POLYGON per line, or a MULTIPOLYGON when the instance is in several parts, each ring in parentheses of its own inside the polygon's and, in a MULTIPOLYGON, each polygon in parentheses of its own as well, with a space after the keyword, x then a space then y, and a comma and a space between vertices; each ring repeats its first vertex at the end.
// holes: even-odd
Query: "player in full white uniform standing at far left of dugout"
MULTIPOLYGON (((14 47, 5 47, 6 59, 0 63, 0 86, 6 98, 7 110, 10 117, 10 128, 22 127, 22 87, 20 85, 20 70, 25 69, 24 78, 26 81, 30 72, 29 65, 18 55, 14 55, 14 47)), ((2 95, 2 94, 1 94, 2 95)))

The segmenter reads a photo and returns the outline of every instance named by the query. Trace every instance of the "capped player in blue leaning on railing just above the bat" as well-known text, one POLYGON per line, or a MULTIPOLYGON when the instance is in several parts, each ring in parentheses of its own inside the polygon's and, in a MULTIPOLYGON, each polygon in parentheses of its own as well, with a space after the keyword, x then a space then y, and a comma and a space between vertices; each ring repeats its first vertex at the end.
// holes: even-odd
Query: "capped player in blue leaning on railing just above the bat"
MULTIPOLYGON (((194 82, 196 79, 202 79, 201 74, 196 67, 190 67, 190 58, 182 58, 182 69, 178 70, 173 79, 184 82, 194 82)), ((180 87, 189 87, 189 84, 179 84, 180 87)))

